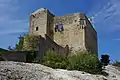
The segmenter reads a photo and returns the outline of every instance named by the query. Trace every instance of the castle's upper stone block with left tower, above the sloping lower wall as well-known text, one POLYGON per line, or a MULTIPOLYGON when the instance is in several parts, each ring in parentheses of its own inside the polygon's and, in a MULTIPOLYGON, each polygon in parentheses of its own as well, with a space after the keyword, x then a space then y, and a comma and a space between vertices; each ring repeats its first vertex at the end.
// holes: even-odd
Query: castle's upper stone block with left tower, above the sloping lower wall
POLYGON ((72 51, 87 50, 98 52, 97 32, 83 13, 55 16, 41 8, 30 15, 30 35, 48 35, 62 47, 72 51))

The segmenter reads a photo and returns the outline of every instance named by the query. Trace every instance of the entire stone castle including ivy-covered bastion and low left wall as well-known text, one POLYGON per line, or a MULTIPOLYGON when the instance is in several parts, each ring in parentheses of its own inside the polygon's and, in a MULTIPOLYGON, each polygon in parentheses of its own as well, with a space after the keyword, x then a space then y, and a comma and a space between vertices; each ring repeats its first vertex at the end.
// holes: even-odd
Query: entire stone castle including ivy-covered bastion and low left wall
POLYGON ((31 62, 31 51, 42 60, 49 49, 66 56, 84 50, 98 53, 97 32, 83 13, 55 16, 41 8, 30 14, 29 35, 23 39, 20 51, 0 49, 0 60, 31 62))

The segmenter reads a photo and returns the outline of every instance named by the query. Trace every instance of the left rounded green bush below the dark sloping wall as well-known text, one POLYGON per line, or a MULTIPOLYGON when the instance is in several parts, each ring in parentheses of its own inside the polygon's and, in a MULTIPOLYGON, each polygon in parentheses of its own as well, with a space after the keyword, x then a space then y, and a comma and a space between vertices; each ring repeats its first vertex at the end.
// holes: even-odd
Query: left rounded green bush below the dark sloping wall
POLYGON ((55 69, 66 69, 68 61, 67 57, 49 50, 43 58, 43 64, 55 69))

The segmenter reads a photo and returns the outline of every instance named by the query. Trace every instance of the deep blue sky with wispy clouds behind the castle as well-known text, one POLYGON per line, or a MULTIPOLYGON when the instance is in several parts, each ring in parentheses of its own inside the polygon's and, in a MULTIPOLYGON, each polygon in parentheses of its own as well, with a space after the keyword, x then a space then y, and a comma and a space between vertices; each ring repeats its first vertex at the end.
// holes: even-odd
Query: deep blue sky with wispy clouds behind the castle
POLYGON ((48 8, 56 16, 84 12, 98 32, 99 55, 120 60, 120 0, 0 0, 0 47, 18 42, 28 32, 29 14, 48 8))

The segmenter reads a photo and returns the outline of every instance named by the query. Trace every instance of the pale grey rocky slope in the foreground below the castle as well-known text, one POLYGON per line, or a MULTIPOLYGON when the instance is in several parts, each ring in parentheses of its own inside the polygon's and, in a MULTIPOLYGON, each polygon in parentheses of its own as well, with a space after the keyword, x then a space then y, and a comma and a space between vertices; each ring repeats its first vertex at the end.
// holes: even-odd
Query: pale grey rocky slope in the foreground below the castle
POLYGON ((0 80, 120 80, 120 71, 114 66, 107 66, 105 71, 109 76, 52 69, 40 64, 0 62, 0 80))

